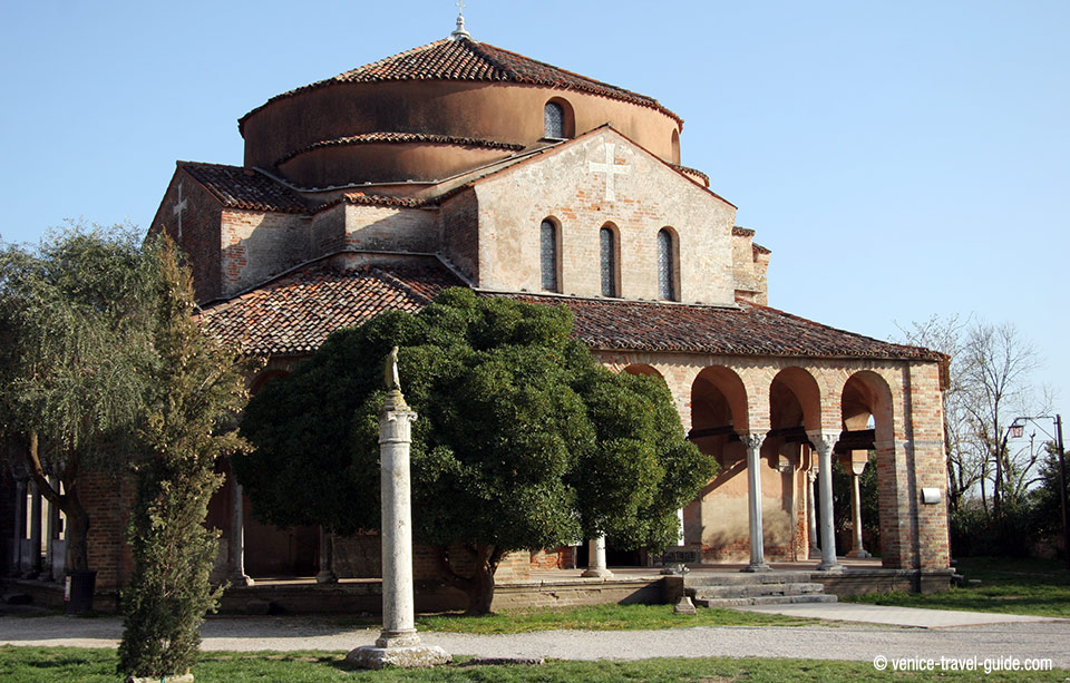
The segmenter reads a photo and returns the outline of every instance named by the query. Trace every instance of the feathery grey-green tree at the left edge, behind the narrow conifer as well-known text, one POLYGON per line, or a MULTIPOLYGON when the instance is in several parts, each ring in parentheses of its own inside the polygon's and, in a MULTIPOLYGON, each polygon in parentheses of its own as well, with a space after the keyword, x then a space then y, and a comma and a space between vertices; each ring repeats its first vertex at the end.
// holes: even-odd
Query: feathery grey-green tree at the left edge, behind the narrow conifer
POLYGON ((75 225, 0 248, 0 431, 67 516, 68 572, 88 568, 86 472, 120 471, 132 452, 150 276, 126 226, 75 225))

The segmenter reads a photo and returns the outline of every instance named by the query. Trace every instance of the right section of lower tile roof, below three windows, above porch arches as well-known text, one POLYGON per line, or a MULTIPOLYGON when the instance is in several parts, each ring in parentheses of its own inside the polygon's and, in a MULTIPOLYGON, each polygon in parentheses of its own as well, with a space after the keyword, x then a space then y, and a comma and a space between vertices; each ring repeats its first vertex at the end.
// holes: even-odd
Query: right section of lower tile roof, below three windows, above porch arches
POLYGON ((943 359, 927 349, 883 342, 751 304, 728 309, 529 294, 504 296, 568 306, 575 321, 575 335, 595 349, 724 355, 943 359))

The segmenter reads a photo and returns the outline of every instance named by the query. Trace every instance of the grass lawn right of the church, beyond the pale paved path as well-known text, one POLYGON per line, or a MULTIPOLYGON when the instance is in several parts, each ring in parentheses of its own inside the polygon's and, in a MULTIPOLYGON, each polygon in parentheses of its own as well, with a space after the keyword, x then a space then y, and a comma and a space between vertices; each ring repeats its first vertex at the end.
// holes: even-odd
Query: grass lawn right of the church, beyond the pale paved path
POLYGON ((1002 612, 1070 618, 1070 572, 1061 560, 964 557, 959 573, 981 579, 946 593, 886 593, 842 598, 849 603, 1002 612))

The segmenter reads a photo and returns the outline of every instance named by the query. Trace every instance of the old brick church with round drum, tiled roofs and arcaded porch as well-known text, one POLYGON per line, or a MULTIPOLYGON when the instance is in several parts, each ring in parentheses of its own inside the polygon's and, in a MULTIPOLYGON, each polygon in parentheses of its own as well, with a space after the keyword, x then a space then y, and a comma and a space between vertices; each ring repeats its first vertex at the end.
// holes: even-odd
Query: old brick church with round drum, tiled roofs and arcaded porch
MULTIPOLYGON (((720 464, 681 510, 677 550, 825 572, 872 552, 884 568, 947 573, 945 359, 770 308, 770 250, 680 165, 683 119, 656 99, 480 42, 458 19, 446 39, 272 97, 239 128, 244 160, 178 162, 149 230, 188 254, 210 333, 268 359, 253 392, 331 332, 445 287, 564 305, 605 365, 668 384, 720 464), (855 487, 837 491, 852 519, 835 519, 834 461, 855 487)), ((239 584, 377 575, 378 537, 334 539, 328 560, 331 539, 260 525, 235 481, 210 524, 218 574, 239 584)), ((129 572, 105 543, 114 526, 93 528, 98 589, 129 572)), ((611 565, 648 559, 609 544, 611 565)), ((503 575, 576 555, 514 554, 503 575)))

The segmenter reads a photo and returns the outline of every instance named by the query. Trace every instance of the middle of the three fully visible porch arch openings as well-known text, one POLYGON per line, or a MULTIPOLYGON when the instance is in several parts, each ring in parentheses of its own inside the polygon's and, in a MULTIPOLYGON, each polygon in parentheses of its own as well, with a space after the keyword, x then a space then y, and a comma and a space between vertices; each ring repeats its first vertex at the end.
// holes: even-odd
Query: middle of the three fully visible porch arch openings
POLYGON ((821 392, 801 368, 785 368, 769 384, 770 431, 762 443, 762 520, 772 559, 807 559, 817 549, 816 506, 808 471, 816 461, 806 431, 820 429, 821 392))

